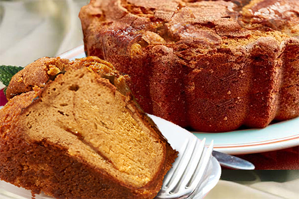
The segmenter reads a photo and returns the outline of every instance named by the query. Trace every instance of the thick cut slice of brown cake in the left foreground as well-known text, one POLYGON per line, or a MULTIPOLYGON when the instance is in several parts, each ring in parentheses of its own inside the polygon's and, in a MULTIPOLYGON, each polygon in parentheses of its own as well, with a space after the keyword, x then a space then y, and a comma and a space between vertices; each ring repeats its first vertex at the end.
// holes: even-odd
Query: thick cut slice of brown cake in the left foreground
POLYGON ((42 58, 8 88, 17 92, 0 110, 1 180, 55 198, 156 196, 177 152, 111 65, 42 58), (32 74, 44 78, 30 85, 32 74))

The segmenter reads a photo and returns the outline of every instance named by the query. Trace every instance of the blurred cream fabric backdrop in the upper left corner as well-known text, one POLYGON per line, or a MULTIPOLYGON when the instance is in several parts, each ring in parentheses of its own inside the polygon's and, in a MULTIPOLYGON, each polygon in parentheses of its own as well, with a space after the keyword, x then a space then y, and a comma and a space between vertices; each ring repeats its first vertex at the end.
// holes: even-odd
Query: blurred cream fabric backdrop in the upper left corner
POLYGON ((89 0, 0 0, 0 64, 26 66, 83 44, 80 8, 89 0))

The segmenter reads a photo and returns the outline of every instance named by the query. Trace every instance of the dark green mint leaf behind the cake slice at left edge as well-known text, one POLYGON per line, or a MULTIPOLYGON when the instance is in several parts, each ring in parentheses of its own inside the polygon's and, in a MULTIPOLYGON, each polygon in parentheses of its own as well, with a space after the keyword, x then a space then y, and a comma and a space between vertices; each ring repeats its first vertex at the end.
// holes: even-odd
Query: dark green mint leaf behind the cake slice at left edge
POLYGON ((22 69, 23 67, 20 66, 5 66, 5 65, 0 66, 0 82, 2 82, 2 84, 5 86, 3 90, 5 95, 6 95, 7 86, 12 76, 14 76, 14 74, 16 74, 22 69))

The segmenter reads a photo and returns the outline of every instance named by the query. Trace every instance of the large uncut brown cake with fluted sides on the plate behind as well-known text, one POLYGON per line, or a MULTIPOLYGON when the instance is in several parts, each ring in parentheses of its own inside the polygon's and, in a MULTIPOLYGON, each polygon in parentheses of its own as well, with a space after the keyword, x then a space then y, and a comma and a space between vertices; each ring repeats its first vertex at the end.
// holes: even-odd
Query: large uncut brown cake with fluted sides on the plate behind
POLYGON ((79 17, 145 112, 208 132, 299 115, 298 0, 91 0, 79 17))

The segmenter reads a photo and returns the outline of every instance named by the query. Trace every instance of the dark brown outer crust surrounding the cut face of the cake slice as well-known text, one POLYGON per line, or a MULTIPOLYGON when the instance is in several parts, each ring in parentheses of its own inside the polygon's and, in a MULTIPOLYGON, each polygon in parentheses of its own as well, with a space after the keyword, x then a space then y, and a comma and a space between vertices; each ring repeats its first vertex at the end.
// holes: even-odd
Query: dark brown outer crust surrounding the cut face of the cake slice
MULTIPOLYGON (((32 65, 43 63, 42 60, 44 59, 37 60, 32 65)), ((56 61, 57 65, 61 65, 58 58, 56 61)), ((162 185, 163 176, 177 157, 177 152, 170 147, 149 117, 138 109, 129 91, 124 90, 126 96, 123 96, 118 93, 109 81, 105 80, 103 83, 101 78, 103 76, 109 77, 108 79, 114 82, 119 81, 121 77, 116 71, 113 71, 111 64, 96 57, 87 57, 70 62, 62 60, 62 62, 65 64, 65 68, 61 68, 60 71, 66 73, 81 70, 82 67, 87 67, 90 71, 96 72, 96 81, 99 84, 105 83, 112 93, 115 95, 117 93, 124 100, 126 108, 138 121, 139 125, 149 129, 148 131, 152 136, 160 140, 164 147, 164 154, 158 172, 145 186, 136 188, 112 177, 105 170, 95 168, 80 156, 71 155, 68 148, 62 146, 59 142, 53 143, 47 138, 34 140, 24 133, 26 127, 21 125, 24 122, 20 121, 19 118, 27 115, 26 110, 28 108, 41 100, 45 100, 43 97, 47 95, 49 90, 52 91, 50 86, 64 76, 64 74, 60 74, 55 79, 53 78, 53 81, 45 80, 46 82, 41 84, 41 88, 37 85, 31 88, 30 91, 22 90, 23 87, 15 88, 21 94, 11 98, 0 110, 0 179, 30 189, 32 193, 38 194, 43 191, 55 198, 154 198, 162 185)), ((40 70, 43 70, 43 68, 40 70)), ((19 73, 26 80, 26 76, 30 76, 26 70, 19 73)), ((16 77, 18 77, 18 74, 16 77)), ((121 79, 120 81, 124 80, 121 79)))

